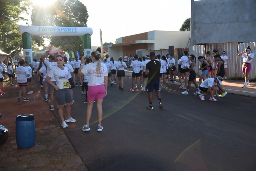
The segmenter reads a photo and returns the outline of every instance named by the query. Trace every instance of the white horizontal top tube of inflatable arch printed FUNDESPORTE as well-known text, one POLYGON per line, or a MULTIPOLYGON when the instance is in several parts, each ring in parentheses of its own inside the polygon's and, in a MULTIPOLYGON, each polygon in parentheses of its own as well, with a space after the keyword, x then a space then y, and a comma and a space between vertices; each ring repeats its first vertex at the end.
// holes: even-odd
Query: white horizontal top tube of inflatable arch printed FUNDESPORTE
POLYGON ((35 36, 83 36, 92 35, 89 27, 52 27, 52 26, 19 26, 20 34, 28 32, 35 36))

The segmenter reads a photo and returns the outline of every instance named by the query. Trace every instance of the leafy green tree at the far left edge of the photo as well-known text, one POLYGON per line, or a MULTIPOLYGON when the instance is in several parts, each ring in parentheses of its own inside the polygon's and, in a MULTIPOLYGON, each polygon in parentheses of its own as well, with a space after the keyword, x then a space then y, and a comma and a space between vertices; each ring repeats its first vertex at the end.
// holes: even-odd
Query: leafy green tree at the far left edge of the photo
POLYGON ((22 35, 18 32, 18 22, 26 21, 21 16, 29 9, 27 0, 1 0, 0 5, 0 49, 11 57, 23 50, 22 35))

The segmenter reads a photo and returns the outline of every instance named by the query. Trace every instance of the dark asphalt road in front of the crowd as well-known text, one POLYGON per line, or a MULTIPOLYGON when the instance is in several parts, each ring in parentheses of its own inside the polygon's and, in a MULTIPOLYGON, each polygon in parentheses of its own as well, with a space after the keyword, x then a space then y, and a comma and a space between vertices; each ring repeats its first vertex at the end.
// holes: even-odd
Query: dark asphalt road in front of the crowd
POLYGON ((194 90, 182 95, 170 85, 161 91, 164 107, 154 94, 154 110, 148 110, 148 94, 130 92, 130 86, 126 77, 125 91, 108 87, 102 132, 95 105, 91 131, 81 130, 87 105, 81 88, 74 89, 77 122, 63 130, 89 170, 255 170, 255 98, 228 94, 201 101, 194 90))

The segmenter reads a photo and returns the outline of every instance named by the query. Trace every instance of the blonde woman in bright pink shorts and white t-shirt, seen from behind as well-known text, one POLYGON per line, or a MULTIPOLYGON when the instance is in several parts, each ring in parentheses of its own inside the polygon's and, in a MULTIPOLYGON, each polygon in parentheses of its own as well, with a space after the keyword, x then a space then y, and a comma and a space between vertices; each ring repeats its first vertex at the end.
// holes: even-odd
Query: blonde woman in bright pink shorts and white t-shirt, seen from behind
POLYGON ((101 125, 102 120, 102 103, 103 98, 107 95, 107 67, 105 64, 100 62, 101 54, 98 51, 91 52, 91 59, 93 63, 86 64, 84 68, 83 65, 86 61, 85 57, 82 57, 82 65, 78 70, 78 75, 83 76, 89 74, 88 82, 88 103, 86 112, 86 124, 82 128, 82 131, 90 131, 89 121, 92 114, 93 102, 96 98, 96 106, 98 113, 98 129, 97 131, 102 131, 103 127, 101 125))

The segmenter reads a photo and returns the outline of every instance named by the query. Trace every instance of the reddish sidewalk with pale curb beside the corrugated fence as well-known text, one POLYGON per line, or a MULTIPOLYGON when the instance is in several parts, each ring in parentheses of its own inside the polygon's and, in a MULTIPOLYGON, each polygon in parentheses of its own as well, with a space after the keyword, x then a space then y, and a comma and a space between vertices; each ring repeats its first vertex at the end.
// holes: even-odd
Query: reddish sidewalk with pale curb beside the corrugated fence
MULTIPOLYGON (((125 70, 125 75, 131 77, 132 71, 125 70)), ((179 85, 180 82, 178 81, 179 78, 176 76, 177 82, 172 84, 179 85)), ((199 78, 196 78, 196 82, 199 84, 199 78)), ((244 85, 244 81, 242 80, 223 80, 222 81, 222 88, 227 91, 228 93, 237 94, 237 95, 244 95, 249 97, 256 97, 256 82, 250 82, 250 85, 247 88, 242 88, 244 85)), ((191 87, 195 88, 195 85, 192 83, 191 87)))

